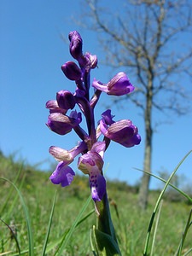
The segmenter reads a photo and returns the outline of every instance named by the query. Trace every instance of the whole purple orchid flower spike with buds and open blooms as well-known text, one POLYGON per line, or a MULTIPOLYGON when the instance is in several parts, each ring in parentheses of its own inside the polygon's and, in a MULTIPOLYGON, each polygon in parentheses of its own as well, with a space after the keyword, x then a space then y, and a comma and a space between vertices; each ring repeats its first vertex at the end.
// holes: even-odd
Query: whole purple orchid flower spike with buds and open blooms
POLYGON ((56 94, 56 100, 46 103, 49 109, 47 126, 51 131, 65 135, 70 131, 80 138, 81 142, 70 150, 51 146, 49 153, 59 163, 55 172, 49 177, 52 183, 61 184, 65 187, 72 183, 75 173, 69 166, 79 154, 78 167, 84 174, 89 175, 90 190, 92 199, 102 201, 106 192, 106 180, 103 177, 102 167, 104 164, 104 152, 107 150, 111 140, 129 148, 141 142, 137 126, 131 120, 123 119, 118 122, 113 120, 111 110, 102 113, 102 119, 96 129, 94 109, 102 92, 108 95, 122 96, 134 90, 133 85, 125 73, 116 74, 107 84, 102 84, 94 79, 92 86, 96 89, 90 98, 90 71, 97 67, 96 55, 89 52, 83 54, 83 40, 79 32, 69 33, 69 50, 79 66, 73 61, 67 61, 61 66, 62 72, 67 79, 73 80, 76 85, 75 93, 68 90, 60 90, 56 94), (77 112, 78 107, 81 112, 77 112), (74 109, 69 115, 67 111, 74 109), (86 120, 86 130, 82 128, 82 115, 86 120), (99 142, 100 135, 104 135, 104 141, 99 142))

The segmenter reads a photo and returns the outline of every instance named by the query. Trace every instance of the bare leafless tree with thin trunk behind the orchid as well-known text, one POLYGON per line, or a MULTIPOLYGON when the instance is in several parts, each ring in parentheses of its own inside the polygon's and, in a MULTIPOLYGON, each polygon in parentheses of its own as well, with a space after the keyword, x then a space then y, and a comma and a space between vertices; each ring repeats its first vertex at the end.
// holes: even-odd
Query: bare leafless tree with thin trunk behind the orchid
MULTIPOLYGON (((188 111, 189 94, 183 79, 191 75, 192 67, 190 1, 119 0, 115 11, 106 7, 105 1, 84 1, 89 7, 84 24, 99 32, 106 63, 126 68, 131 80, 134 75, 137 78, 137 89, 130 99, 143 113, 146 135, 143 170, 151 172, 152 113, 188 111)), ((138 195, 143 209, 147 207, 149 180, 150 176, 144 173, 138 195)))

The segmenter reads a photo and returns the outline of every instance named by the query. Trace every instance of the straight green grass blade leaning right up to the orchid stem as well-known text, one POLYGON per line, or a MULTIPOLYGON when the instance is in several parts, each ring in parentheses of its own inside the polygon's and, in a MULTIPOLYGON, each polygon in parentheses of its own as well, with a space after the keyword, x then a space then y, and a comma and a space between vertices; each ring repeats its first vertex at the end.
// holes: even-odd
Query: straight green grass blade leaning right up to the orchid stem
POLYGON ((77 218, 75 219, 73 225, 71 226, 71 228, 68 231, 67 235, 64 237, 64 240, 61 241, 61 245, 59 246, 58 250, 55 252, 55 255, 57 255, 57 256, 63 255, 62 254, 63 250, 67 246, 68 241, 70 240, 71 236, 73 235, 73 231, 75 230, 76 226, 79 224, 79 221, 80 221, 83 213, 85 212, 86 208, 89 206, 90 201, 91 201, 91 195, 89 196, 87 201, 85 201, 84 207, 82 207, 82 209, 79 212, 79 215, 77 216, 77 218))

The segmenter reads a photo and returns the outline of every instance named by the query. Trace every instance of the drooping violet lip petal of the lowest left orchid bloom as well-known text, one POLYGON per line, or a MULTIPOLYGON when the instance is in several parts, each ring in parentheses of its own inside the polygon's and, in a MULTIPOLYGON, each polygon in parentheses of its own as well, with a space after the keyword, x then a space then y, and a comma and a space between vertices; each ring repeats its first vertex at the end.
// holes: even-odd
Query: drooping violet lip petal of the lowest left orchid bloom
POLYGON ((66 187, 70 185, 73 181, 73 176, 75 176, 75 172, 69 166, 67 166, 66 162, 60 162, 55 169, 55 172, 51 174, 49 179, 54 184, 60 184, 62 187, 66 187))

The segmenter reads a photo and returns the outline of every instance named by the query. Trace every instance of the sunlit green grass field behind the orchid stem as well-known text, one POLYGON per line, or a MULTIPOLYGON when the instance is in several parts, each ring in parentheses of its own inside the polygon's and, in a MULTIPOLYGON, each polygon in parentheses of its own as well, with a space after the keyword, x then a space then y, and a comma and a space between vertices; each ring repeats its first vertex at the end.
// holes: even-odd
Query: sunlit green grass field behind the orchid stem
MULTIPOLYGON (((0 176, 3 177, 0 180, 0 255, 19 255, 18 250, 20 255, 58 255, 57 249, 62 240, 66 245, 60 255, 93 255, 90 230, 96 224, 96 216, 91 200, 80 218, 82 221, 78 222, 67 240, 69 229, 90 196, 88 178, 75 177, 72 186, 61 188, 49 182, 47 172, 22 166, 11 157, 1 155, 0 160, 0 176), (4 178, 15 183, 18 190, 4 178), (50 221, 55 189, 55 209, 50 221), (49 239, 45 242, 49 222, 49 239), (31 234, 29 238, 28 234, 31 234)), ((122 255, 143 255, 148 225, 159 195, 160 191, 150 191, 148 209, 141 212, 137 207, 135 188, 125 183, 108 182, 111 214, 122 255)), ((192 248, 191 219, 182 252, 176 254, 191 208, 191 202, 184 198, 170 201, 165 197, 161 201, 160 216, 158 221, 156 217, 154 219, 149 240, 149 247, 153 247, 151 255, 192 255, 189 251, 192 248)))

